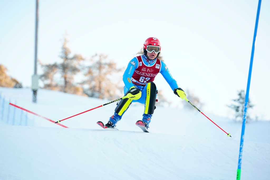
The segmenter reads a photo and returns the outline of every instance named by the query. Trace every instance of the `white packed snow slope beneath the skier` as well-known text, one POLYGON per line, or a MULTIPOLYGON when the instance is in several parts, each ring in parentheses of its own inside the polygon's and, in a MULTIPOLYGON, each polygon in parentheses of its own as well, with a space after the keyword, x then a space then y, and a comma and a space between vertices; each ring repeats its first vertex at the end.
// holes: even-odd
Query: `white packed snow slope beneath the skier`
MULTIPOLYGON (((30 89, 0 91, 11 103, 54 121, 110 101, 40 89, 34 104, 30 89)), ((11 125, 8 108, 2 108, 0 179, 236 179, 241 124, 204 112, 231 133, 227 137, 198 111, 157 107, 151 133, 144 133, 135 125, 144 106, 132 103, 117 124, 120 131, 103 130, 96 122, 106 123, 115 106, 61 122, 69 128, 30 113, 32 126, 11 125)), ((241 179, 269 179, 269 128, 269 121, 246 124, 241 179)))

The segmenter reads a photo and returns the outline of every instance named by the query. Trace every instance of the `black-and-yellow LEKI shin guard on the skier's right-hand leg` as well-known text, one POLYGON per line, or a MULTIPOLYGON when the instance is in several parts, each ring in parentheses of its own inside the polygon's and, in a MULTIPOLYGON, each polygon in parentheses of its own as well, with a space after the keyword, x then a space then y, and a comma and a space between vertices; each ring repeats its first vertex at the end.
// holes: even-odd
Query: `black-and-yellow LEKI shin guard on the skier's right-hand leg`
POLYGON ((146 101, 145 101, 145 114, 154 114, 156 104, 157 87, 153 82, 146 85, 146 101))

